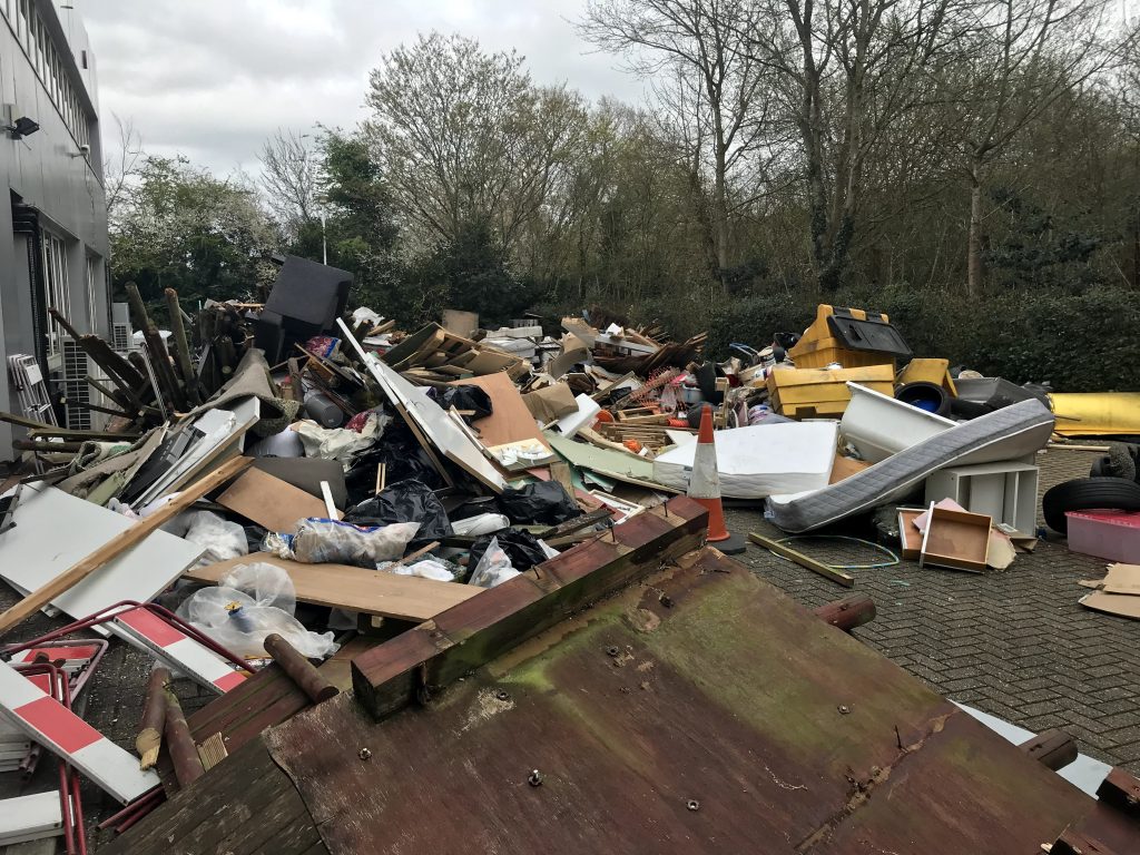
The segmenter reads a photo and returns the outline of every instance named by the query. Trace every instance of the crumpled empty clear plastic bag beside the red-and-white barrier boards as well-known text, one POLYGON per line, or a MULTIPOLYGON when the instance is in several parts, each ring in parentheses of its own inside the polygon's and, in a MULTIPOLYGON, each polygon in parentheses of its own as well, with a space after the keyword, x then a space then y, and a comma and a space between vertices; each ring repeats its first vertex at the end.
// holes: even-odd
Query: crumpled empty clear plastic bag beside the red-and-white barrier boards
POLYGON ((196 592, 178 608, 178 614, 239 657, 266 656, 270 633, 310 659, 336 652, 332 633, 309 632, 293 617, 295 604, 288 575, 258 562, 239 564, 220 586, 196 592))

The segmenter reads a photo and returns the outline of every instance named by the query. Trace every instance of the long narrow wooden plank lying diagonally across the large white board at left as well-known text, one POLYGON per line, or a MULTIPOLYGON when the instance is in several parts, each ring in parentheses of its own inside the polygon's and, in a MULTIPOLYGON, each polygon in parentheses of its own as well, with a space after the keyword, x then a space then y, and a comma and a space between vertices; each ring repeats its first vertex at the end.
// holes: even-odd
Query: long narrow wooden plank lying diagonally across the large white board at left
POLYGON ((16 605, 0 614, 0 635, 7 633, 28 616, 34 614, 36 611, 50 603, 55 597, 75 587, 75 585, 112 559, 122 554, 136 544, 141 543, 147 535, 156 531, 160 527, 168 523, 174 516, 202 498, 202 496, 213 489, 217 489, 218 487, 221 487, 221 484, 226 483, 226 481, 242 472, 251 463, 252 461, 245 457, 239 457, 223 463, 205 478, 190 484, 190 487, 179 494, 177 498, 168 502, 146 519, 139 520, 122 534, 113 537, 106 544, 100 546, 87 557, 73 564, 70 569, 65 570, 43 587, 28 594, 21 602, 16 603, 16 605))

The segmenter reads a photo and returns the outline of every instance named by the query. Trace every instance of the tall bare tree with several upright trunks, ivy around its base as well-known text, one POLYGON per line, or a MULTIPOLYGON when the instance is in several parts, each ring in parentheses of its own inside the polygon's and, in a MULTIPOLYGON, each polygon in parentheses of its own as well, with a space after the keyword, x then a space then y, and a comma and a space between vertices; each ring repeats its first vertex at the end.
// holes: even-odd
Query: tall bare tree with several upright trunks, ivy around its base
POLYGON ((922 75, 964 30, 970 0, 760 0, 749 50, 780 74, 799 132, 812 253, 834 287, 856 231, 866 166, 901 117, 923 108, 922 75))

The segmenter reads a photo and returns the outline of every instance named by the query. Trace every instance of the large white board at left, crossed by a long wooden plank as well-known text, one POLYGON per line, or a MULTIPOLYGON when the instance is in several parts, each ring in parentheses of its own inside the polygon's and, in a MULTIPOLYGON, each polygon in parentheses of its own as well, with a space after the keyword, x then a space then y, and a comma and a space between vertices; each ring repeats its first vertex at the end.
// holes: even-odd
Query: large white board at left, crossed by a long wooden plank
MULTIPOLYGON (((0 577, 21 592, 38 591, 133 521, 54 487, 26 486, 15 528, 0 535, 0 577)), ((203 547, 155 531, 51 604, 84 618, 122 600, 150 600, 195 563, 203 547)))

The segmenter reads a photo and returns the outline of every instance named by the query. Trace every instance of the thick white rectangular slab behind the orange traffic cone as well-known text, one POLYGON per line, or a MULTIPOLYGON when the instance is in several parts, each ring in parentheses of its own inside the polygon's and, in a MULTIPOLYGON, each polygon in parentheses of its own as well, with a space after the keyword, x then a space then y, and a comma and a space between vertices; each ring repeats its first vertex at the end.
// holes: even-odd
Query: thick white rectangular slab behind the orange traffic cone
MULTIPOLYGON (((720 495, 764 498, 828 486, 836 459, 837 422, 813 421, 734 427, 714 433, 720 495)), ((653 480, 689 488, 697 443, 686 442, 653 461, 653 480)))

